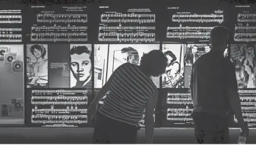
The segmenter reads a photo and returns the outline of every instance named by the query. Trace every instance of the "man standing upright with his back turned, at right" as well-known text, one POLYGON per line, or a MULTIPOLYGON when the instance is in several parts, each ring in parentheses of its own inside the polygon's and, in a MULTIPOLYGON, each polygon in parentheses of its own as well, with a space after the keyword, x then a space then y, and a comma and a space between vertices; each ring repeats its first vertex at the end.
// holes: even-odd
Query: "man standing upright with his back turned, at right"
POLYGON ((223 57, 228 45, 228 29, 215 27, 210 33, 212 49, 202 55, 191 71, 191 97, 197 143, 229 143, 229 117, 232 110, 248 136, 249 129, 241 111, 235 66, 223 57), (231 108, 230 108, 230 107, 231 108))

